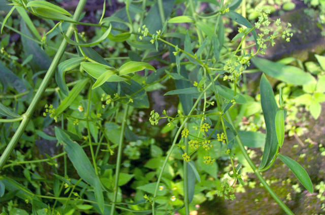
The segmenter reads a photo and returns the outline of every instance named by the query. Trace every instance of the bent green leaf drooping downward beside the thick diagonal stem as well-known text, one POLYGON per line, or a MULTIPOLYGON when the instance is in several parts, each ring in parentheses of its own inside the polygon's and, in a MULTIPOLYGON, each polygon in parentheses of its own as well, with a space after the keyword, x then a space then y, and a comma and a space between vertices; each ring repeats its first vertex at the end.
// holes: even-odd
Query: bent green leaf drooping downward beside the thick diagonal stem
POLYGON ((56 83, 57 83, 60 91, 62 91, 62 93, 64 95, 68 96, 68 94, 69 94, 69 89, 66 85, 66 80, 64 78, 64 74, 66 74, 66 71, 76 68, 77 66, 80 65, 81 62, 83 62, 85 60, 86 60, 85 57, 71 58, 69 60, 61 62, 57 66, 57 71, 55 72, 55 80, 56 80, 56 83))

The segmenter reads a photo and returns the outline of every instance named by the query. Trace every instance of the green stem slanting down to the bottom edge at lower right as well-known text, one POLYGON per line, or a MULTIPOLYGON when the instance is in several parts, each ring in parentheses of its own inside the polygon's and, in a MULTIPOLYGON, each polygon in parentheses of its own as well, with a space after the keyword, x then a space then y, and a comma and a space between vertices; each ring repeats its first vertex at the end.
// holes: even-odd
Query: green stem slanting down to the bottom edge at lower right
MULTIPOLYGON (((233 125, 233 121, 232 118, 229 114, 229 112, 226 112, 226 116, 228 118, 228 121, 230 122, 230 124, 233 125)), ((277 196, 276 193, 273 192, 272 188, 268 185, 268 183, 264 180, 263 176, 261 175, 261 173, 259 173, 258 169, 256 168, 255 164, 253 163, 253 161, 250 159, 249 155, 246 152, 246 149, 244 147, 244 144, 242 143, 242 141, 240 140, 239 136, 236 136, 236 141, 239 145, 239 148, 241 150, 241 152, 243 153, 246 161, 248 162, 249 166, 252 168, 252 170, 254 171, 254 174, 256 175, 256 177, 259 179, 259 181, 261 181, 261 183, 263 184, 263 186, 265 187, 265 189, 270 193, 270 195, 273 197, 273 199, 280 205, 280 207, 288 214, 288 215, 295 215, 295 213, 293 213, 293 211, 291 211, 284 203, 283 201, 277 196)))

